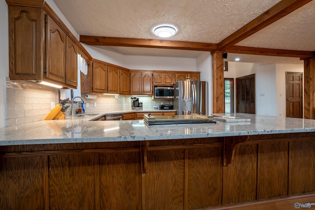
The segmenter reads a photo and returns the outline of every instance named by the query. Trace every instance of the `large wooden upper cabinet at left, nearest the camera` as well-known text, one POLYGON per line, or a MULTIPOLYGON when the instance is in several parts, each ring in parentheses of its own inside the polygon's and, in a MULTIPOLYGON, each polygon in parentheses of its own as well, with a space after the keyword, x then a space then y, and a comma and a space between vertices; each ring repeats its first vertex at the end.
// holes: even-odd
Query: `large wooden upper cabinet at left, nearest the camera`
MULTIPOLYGON (((32 4, 24 1, 28 2, 32 4)), ((8 6, 9 77, 76 88, 77 45, 67 38, 68 30, 58 22, 58 17, 45 9, 8 6)))

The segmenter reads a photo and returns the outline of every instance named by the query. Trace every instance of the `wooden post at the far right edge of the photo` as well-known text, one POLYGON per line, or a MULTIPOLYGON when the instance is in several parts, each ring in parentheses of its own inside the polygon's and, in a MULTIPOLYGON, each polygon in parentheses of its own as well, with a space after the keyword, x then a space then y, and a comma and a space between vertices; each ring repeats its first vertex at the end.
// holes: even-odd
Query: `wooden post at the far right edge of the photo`
POLYGON ((304 117, 315 119, 315 58, 304 60, 304 117))

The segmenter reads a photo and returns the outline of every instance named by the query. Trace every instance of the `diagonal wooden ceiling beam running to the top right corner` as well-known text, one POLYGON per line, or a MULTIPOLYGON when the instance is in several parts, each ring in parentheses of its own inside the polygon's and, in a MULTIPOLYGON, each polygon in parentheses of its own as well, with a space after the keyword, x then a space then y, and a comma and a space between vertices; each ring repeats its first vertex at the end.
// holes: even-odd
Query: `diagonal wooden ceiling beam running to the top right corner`
POLYGON ((225 50, 228 47, 244 40, 255 32, 269 26, 285 15, 293 12, 301 6, 309 3, 312 0, 282 0, 267 11, 263 12, 257 18, 235 31, 227 38, 223 39, 219 44, 219 50, 225 50))

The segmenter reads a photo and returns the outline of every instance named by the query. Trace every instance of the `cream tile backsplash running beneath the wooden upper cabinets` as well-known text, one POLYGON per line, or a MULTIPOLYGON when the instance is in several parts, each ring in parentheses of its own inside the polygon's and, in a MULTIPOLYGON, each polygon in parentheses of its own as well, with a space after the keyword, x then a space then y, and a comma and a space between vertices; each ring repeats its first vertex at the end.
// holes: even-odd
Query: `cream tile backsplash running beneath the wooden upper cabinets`
MULTIPOLYGON (((85 94, 81 96, 85 98, 85 94)), ((172 104, 173 102, 173 100, 153 100, 151 96, 137 97, 139 102, 142 102, 144 111, 153 110, 153 106, 161 103, 172 104)), ((99 94, 96 99, 85 98, 85 100, 89 103, 89 107, 84 105, 86 113, 131 110, 131 95, 99 94)), ((6 126, 44 120, 51 111, 51 102, 59 103, 59 90, 6 81, 6 126)), ((71 104, 67 105, 71 106, 71 104)), ((75 103, 74 109, 78 106, 81 106, 81 103, 75 103)), ((71 108, 66 110, 66 115, 71 115, 71 108)))

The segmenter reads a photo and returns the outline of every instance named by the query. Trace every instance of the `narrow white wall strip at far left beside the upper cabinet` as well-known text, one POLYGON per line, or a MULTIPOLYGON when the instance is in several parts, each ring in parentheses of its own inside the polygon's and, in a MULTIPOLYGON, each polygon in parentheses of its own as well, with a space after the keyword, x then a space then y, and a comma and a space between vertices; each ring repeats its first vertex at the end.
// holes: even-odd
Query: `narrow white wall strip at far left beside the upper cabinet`
POLYGON ((6 77, 9 76, 9 26, 8 9, 5 0, 0 0, 0 127, 6 119, 6 77))

